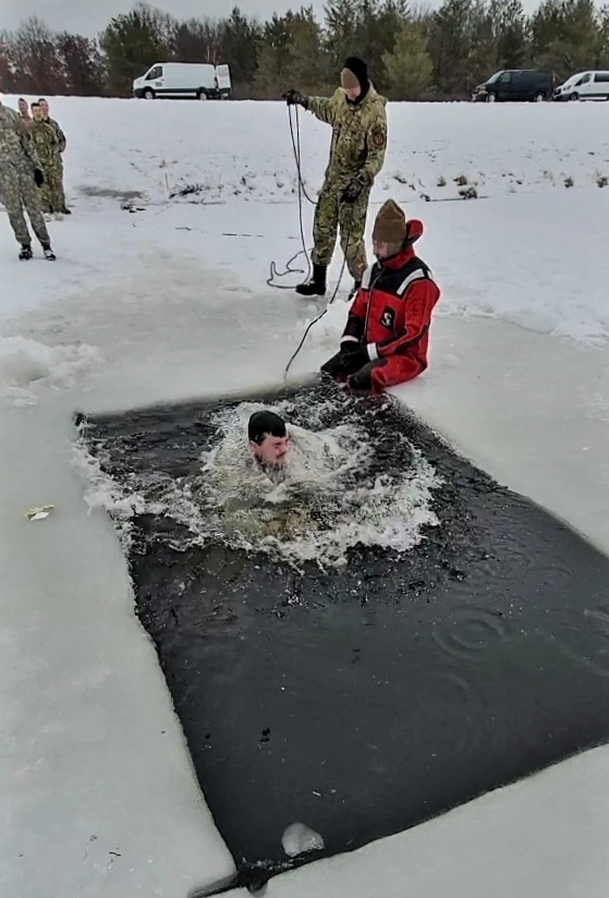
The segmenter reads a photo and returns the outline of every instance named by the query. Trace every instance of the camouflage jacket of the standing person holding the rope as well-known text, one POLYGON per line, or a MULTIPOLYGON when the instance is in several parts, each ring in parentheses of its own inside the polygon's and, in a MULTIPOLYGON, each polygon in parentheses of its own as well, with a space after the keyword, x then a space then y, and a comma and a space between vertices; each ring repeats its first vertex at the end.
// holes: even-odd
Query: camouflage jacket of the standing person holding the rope
POLYGON ((326 180, 346 183, 354 178, 372 186, 385 163, 387 149, 387 99, 373 85, 361 104, 346 101, 342 88, 331 97, 309 97, 307 109, 332 125, 326 180))

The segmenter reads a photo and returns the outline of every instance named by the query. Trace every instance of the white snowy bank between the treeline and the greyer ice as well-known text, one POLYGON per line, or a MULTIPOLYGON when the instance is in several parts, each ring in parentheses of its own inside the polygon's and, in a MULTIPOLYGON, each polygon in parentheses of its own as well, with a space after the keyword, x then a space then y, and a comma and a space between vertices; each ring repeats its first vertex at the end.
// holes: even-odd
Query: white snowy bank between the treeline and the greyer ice
MULTIPOLYGON (((28 99, 35 99, 31 97, 28 99)), ((7 104, 16 107, 17 97, 7 104)), ((68 184, 92 202, 138 195, 285 202, 296 185, 282 102, 145 102, 57 97, 68 184)), ((389 149, 375 194, 459 198, 596 186, 609 178, 602 104, 389 104, 389 149)), ((294 119, 295 121, 295 119, 294 119)), ((300 112, 303 173, 324 177, 330 131, 300 112)))

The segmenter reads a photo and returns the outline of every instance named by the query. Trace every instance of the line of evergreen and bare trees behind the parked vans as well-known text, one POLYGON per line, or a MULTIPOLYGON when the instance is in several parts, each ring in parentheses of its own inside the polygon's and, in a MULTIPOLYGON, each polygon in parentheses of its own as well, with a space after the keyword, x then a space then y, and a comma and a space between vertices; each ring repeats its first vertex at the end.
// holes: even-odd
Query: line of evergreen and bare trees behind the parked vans
POLYGON ((228 62, 234 96, 272 99, 291 85, 328 93, 346 56, 368 61, 391 99, 467 97, 503 68, 543 66, 559 78, 609 69, 609 5, 544 0, 525 15, 521 0, 444 0, 436 10, 406 0, 328 0, 269 21, 234 8, 227 19, 178 21, 139 3, 97 38, 53 32, 37 17, 0 33, 5 93, 131 96, 154 62, 228 62))

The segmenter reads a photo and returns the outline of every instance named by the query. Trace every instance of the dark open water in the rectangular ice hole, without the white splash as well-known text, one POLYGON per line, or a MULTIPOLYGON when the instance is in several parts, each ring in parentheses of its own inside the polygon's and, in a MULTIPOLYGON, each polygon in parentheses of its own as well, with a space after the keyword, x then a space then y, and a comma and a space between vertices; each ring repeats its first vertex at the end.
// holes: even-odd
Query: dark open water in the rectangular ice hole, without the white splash
MULTIPOLYGON (((295 423, 357 421, 366 476, 418 449, 443 483, 407 554, 355 546, 327 571, 134 517, 136 612, 244 883, 287 861, 294 822, 350 850, 609 737, 609 560, 389 400, 279 398, 295 423)), ((83 438, 127 493, 137 472, 187 481, 222 404, 89 418, 83 438)))

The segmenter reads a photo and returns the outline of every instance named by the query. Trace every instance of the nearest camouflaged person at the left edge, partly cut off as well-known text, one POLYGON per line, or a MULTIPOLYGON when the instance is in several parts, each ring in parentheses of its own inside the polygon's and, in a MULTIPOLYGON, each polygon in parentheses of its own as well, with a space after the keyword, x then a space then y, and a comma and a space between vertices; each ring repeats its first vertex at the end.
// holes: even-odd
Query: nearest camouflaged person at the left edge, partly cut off
POLYGON ((54 259, 40 208, 39 187, 45 183, 45 175, 27 129, 28 125, 14 109, 8 109, 0 102, 0 202, 21 244, 20 258, 32 258, 32 238, 23 215, 25 206, 45 256, 54 259))

